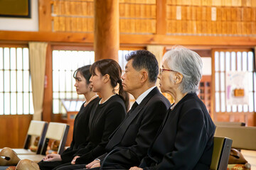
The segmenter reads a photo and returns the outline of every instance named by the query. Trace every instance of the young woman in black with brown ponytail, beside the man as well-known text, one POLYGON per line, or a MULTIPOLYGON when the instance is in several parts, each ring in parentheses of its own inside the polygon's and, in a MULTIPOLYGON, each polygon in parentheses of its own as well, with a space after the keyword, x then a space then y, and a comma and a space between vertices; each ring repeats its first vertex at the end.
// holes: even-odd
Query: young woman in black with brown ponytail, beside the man
POLYGON ((129 107, 129 96, 122 89, 122 69, 117 62, 110 59, 99 60, 90 67, 92 91, 102 97, 92 109, 89 120, 90 134, 88 144, 80 149, 70 166, 60 169, 77 169, 80 164, 92 162, 105 153, 105 146, 112 132, 124 120, 129 107), (116 94, 118 91, 118 94, 116 94))

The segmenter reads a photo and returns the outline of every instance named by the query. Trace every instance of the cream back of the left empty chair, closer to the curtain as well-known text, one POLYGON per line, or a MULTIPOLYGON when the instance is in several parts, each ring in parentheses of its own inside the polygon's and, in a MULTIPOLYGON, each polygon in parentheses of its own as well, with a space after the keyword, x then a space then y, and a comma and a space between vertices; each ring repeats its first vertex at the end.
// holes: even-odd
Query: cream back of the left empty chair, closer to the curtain
POLYGON ((39 137, 39 140, 38 140, 38 146, 37 146, 38 149, 36 151, 36 154, 40 154, 43 146, 43 141, 45 140, 45 137, 46 137, 47 127, 48 127, 48 123, 44 121, 31 120, 23 148, 28 149, 29 144, 31 142, 31 137, 37 136, 39 137))

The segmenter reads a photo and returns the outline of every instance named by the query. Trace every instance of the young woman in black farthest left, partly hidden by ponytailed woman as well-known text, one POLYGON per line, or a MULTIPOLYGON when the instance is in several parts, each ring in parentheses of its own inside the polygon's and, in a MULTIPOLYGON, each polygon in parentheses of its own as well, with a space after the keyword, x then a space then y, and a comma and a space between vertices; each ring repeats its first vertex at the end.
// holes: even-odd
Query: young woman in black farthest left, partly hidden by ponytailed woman
POLYGON ((74 130, 73 130, 73 140, 70 147, 66 149, 62 154, 48 154, 42 162, 39 162, 40 169, 53 169, 56 166, 71 162, 73 157, 75 157, 76 152, 79 149, 85 147, 88 144, 88 134, 89 134, 89 118, 92 108, 99 103, 100 98, 97 94, 92 91, 92 86, 90 84, 90 66, 86 65, 84 67, 78 68, 73 77, 75 78, 75 89, 77 94, 85 96, 85 103, 82 104, 78 115, 75 117, 74 130))

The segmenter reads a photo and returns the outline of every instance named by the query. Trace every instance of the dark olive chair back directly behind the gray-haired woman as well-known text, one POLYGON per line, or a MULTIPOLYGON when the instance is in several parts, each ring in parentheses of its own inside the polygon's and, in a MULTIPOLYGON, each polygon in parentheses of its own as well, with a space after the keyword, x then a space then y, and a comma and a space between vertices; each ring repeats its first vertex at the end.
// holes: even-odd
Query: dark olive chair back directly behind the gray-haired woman
POLYGON ((211 170, 227 169, 231 145, 232 140, 228 137, 214 137, 211 170))

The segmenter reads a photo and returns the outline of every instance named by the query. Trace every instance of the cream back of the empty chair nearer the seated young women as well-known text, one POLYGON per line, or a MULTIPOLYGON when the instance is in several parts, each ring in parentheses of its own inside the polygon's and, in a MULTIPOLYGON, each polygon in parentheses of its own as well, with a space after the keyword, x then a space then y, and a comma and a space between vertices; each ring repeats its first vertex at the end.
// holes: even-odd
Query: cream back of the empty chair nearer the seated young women
POLYGON ((65 123, 49 123, 48 130, 46 132, 46 138, 43 142, 43 149, 41 154, 46 154, 47 146, 49 140, 58 140, 60 145, 58 147, 58 154, 61 154, 64 151, 65 142, 68 136, 69 125, 65 123))

